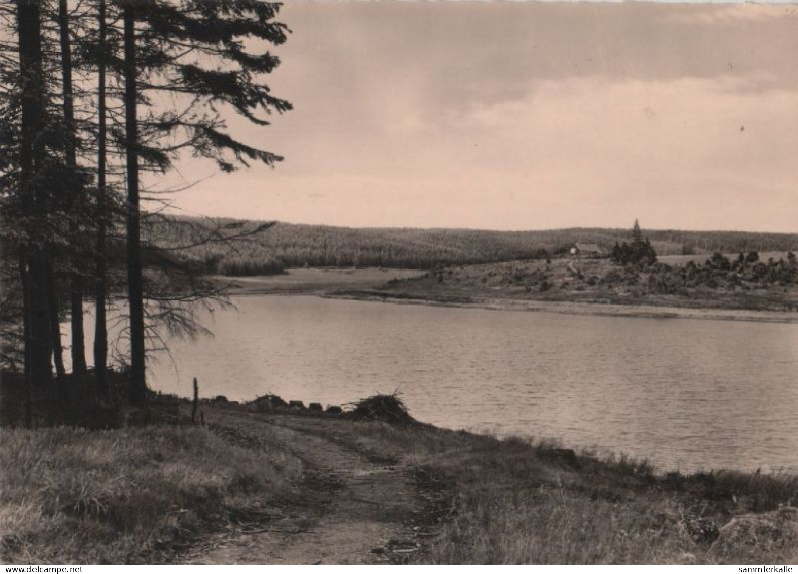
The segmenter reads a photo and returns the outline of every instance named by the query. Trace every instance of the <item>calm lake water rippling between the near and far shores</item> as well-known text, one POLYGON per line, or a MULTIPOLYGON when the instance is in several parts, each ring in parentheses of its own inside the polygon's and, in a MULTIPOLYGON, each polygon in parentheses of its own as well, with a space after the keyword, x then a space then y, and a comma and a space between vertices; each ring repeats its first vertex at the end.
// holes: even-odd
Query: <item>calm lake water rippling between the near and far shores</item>
POLYGON ((798 469, 798 325, 252 296, 174 342, 149 383, 345 404, 397 390, 421 421, 556 437, 662 469, 798 469))

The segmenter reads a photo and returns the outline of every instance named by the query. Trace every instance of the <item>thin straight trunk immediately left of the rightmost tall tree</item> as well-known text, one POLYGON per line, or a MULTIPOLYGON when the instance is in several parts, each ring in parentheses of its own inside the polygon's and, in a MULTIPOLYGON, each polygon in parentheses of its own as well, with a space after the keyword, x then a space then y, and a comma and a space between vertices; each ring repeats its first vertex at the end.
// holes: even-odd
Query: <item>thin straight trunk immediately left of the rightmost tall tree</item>
POLYGON ((97 394, 108 394, 105 370, 108 365, 108 327, 105 325, 105 302, 108 298, 105 279, 105 0, 100 0, 99 20, 101 60, 97 71, 97 245, 94 311, 94 376, 97 379, 97 394))

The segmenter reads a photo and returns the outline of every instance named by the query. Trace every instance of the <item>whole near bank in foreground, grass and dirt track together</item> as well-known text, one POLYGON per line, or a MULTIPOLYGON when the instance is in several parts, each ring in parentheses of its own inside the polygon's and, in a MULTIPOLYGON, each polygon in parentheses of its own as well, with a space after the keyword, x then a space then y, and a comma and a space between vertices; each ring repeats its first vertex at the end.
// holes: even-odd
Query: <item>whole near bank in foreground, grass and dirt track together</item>
POLYGON ((203 401, 199 425, 188 422, 189 403, 180 401, 172 409, 181 424, 9 430, 4 461, 48 461, 33 480, 22 465, 9 465, 16 472, 7 479, 13 497, 6 504, 34 501, 41 509, 41 518, 18 522, 11 552, 49 562, 81 556, 142 564, 318 564, 320 557, 326 564, 744 564, 796 557, 794 474, 660 474, 645 459, 556 441, 390 422, 385 415, 393 410, 302 416, 252 404, 203 401), (89 495, 56 480, 76 461, 96 465, 97 453, 102 465, 90 476, 89 495), (132 488, 140 482, 149 489, 132 488), (102 493, 113 515, 86 505, 92 493, 102 493), (63 504, 45 513, 53 500, 63 504), (67 544, 76 518, 80 528, 106 532, 104 543, 87 537, 67 544), (162 525, 157 546, 149 544, 153 524, 162 525))

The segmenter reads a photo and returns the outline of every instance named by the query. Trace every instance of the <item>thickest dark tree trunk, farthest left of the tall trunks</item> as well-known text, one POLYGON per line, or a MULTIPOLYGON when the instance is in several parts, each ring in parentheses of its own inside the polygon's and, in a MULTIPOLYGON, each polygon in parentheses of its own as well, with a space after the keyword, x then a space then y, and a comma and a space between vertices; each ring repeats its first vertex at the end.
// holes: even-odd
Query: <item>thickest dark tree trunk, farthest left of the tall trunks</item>
POLYGON ((43 220, 48 209, 47 193, 41 184, 45 157, 41 138, 44 118, 44 75, 41 65, 41 17, 38 0, 17 0, 19 65, 22 77, 22 141, 20 146, 20 188, 27 246, 23 248, 21 273, 26 296, 23 314, 28 322, 26 355, 28 381, 32 385, 50 382, 50 354, 47 297, 48 258, 43 220))

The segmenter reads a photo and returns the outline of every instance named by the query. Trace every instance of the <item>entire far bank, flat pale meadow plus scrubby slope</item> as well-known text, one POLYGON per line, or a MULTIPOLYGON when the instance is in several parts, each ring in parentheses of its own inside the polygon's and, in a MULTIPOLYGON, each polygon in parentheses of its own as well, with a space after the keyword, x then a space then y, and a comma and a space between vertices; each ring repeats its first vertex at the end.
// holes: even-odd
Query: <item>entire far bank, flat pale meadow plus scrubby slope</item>
MULTIPOLYGON (((763 253, 778 262, 787 254, 763 253)), ((290 269, 282 275, 230 279, 235 295, 328 295, 577 315, 631 315, 798 321, 798 283, 771 281, 768 265, 721 270, 701 257, 674 255, 662 265, 621 267, 608 259, 555 258, 412 271, 385 268, 290 269), (572 267, 570 267, 572 266, 572 267), (692 274, 692 275, 690 275, 692 274), (782 284, 783 283, 783 284, 782 284)))

